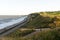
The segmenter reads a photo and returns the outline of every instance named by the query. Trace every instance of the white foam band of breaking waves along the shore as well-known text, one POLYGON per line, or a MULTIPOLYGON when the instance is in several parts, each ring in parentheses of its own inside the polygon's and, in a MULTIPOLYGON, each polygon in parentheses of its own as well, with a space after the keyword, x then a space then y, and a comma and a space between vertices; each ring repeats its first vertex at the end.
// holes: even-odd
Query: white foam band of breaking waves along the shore
POLYGON ((19 23, 19 22, 23 21, 26 17, 27 16, 24 16, 24 17, 20 17, 18 19, 10 20, 9 22, 2 23, 2 24, 0 24, 0 29, 3 29, 5 27, 11 26, 13 24, 19 23))

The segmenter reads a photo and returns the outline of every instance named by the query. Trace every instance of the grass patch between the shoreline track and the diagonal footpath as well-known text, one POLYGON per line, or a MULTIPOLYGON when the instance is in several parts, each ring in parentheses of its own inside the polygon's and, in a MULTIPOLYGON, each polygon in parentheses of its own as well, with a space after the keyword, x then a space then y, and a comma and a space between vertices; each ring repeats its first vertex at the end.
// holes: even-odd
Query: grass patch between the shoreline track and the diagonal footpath
POLYGON ((34 32, 35 30, 31 29, 31 30, 16 30, 13 33, 10 33, 9 35, 6 35, 4 37, 1 37, 1 40, 20 40, 23 36, 26 36, 32 32, 34 32))

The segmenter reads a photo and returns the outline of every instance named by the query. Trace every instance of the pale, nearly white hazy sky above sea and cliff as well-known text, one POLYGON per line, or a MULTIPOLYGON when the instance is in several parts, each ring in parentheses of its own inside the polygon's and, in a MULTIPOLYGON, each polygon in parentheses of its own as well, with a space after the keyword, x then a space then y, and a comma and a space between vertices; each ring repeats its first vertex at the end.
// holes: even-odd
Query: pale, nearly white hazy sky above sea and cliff
POLYGON ((0 15, 60 10, 60 0, 0 0, 0 15))

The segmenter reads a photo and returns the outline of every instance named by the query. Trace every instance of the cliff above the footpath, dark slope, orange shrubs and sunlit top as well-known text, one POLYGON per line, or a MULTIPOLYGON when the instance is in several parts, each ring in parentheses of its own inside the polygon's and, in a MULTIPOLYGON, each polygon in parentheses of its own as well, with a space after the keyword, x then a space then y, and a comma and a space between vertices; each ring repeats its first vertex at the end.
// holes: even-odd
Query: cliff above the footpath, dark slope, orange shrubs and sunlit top
POLYGON ((60 26, 60 14, 57 12, 39 12, 30 14, 27 28, 54 28, 60 26), (52 15, 52 16, 51 16, 52 15), (58 16, 59 15, 59 16, 58 16))

